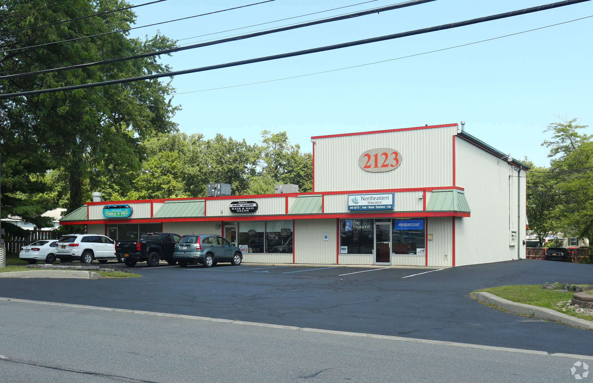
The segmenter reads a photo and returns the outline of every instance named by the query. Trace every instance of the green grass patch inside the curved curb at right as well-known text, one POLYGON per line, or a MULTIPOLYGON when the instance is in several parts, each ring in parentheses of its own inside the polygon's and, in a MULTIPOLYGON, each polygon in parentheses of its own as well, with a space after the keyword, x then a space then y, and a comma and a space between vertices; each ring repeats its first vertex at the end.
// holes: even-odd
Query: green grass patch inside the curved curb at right
POLYGON ((512 302, 545 307, 573 317, 593 321, 593 315, 575 312, 575 309, 570 308, 570 304, 566 304, 567 301, 572 300, 573 292, 570 291, 544 290, 541 285, 506 285, 474 292, 478 291, 489 292, 512 302), (560 302, 564 303, 559 304, 560 302))

